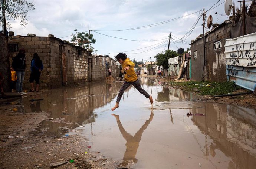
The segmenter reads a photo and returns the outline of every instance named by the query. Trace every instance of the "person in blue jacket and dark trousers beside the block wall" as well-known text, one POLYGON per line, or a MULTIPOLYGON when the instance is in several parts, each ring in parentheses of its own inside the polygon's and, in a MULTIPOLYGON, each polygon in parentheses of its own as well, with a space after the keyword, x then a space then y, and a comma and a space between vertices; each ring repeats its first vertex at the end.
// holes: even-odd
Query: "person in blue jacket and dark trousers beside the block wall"
POLYGON ((40 60, 39 56, 37 53, 34 53, 33 55, 33 59, 31 60, 31 67, 30 67, 31 73, 30 73, 30 78, 29 78, 29 82, 30 82, 30 86, 31 89, 29 90, 29 92, 39 92, 39 79, 40 79, 40 75, 41 75, 41 71, 43 70, 43 63, 42 60, 40 60), (36 90, 34 88, 34 80, 36 80, 36 90))

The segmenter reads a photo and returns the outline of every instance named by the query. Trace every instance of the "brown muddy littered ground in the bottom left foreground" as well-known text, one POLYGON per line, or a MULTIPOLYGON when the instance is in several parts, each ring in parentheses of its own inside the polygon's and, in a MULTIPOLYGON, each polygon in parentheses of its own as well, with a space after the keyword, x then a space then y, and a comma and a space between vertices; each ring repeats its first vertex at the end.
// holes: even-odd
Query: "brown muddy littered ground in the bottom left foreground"
POLYGON ((67 161, 58 169, 107 169, 116 163, 100 152, 91 152, 86 138, 69 135, 53 138, 33 134, 40 122, 47 119, 47 112, 19 113, 13 105, 0 103, 0 168, 32 169, 53 168, 51 163, 67 161), (75 160, 70 163, 70 159, 75 160))

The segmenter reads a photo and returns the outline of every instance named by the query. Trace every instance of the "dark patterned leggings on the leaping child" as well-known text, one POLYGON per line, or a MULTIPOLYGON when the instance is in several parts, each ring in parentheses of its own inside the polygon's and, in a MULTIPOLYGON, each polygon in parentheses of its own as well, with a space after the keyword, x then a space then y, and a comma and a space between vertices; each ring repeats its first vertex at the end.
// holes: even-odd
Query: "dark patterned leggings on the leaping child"
POLYGON ((125 81, 124 84, 122 85, 121 89, 119 90, 119 93, 117 95, 117 99, 116 99, 116 102, 119 103, 121 98, 122 98, 122 95, 124 94, 124 91, 130 86, 130 85, 133 85, 141 94, 143 94, 146 98, 149 98, 150 95, 144 90, 141 88, 141 85, 140 85, 140 82, 139 80, 137 79, 136 81, 134 82, 127 82, 125 81))

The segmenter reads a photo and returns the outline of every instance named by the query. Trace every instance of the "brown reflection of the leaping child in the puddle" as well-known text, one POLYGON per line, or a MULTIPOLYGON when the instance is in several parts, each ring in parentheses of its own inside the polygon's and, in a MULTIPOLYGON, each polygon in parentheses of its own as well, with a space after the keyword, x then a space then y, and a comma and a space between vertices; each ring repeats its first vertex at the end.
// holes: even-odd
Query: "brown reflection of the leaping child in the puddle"
POLYGON ((137 133, 134 136, 132 136, 131 134, 129 134, 125 131, 125 129, 122 126, 121 121, 119 119, 119 115, 112 114, 112 116, 115 116, 118 128, 119 128, 122 136, 126 140, 126 144, 125 144, 126 151, 124 153, 124 158, 122 159, 123 162, 121 162, 119 164, 119 167, 127 166, 129 161, 131 161, 131 160, 132 160, 132 162, 137 163, 138 160, 135 158, 135 156, 136 156, 136 153, 137 153, 137 150, 139 147, 139 143, 141 141, 141 136, 142 136, 142 133, 144 132, 144 130, 147 128, 147 126, 153 120, 153 116, 154 116, 153 112, 151 112, 150 118, 145 121, 144 125, 141 126, 141 128, 137 131, 137 133))

